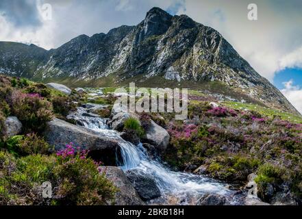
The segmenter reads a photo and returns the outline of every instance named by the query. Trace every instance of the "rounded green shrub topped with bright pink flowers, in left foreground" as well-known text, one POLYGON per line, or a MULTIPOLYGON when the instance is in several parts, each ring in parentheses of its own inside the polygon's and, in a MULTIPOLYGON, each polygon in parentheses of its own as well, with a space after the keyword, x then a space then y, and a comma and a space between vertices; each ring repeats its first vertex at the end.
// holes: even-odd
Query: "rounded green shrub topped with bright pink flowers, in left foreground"
POLYGON ((60 179, 60 203, 105 205, 114 200, 116 188, 100 173, 99 164, 86 157, 87 153, 73 144, 57 153, 61 165, 56 166, 54 173, 60 179))

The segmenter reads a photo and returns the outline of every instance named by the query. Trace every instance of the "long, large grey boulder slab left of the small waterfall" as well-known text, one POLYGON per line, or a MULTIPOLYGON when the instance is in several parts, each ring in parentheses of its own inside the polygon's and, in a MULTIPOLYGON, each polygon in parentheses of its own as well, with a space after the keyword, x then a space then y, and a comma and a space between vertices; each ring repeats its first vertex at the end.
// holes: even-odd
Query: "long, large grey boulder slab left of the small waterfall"
POLYGON ((47 123, 45 138, 50 145, 55 146, 55 151, 65 148, 65 145, 73 142, 81 149, 89 150, 94 157, 106 165, 116 165, 116 150, 119 149, 120 138, 106 136, 105 133, 93 131, 86 127, 80 127, 63 120, 54 118, 47 123))

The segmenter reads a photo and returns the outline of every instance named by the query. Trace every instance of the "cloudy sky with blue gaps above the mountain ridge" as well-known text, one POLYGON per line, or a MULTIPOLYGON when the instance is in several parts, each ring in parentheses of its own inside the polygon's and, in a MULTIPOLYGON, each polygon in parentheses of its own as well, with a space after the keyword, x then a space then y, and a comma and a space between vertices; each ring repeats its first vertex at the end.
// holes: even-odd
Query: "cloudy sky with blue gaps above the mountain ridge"
POLYGON ((302 112, 301 0, 0 0, 0 41, 56 48, 80 34, 136 25, 154 6, 217 29, 302 112), (247 18, 249 3, 257 21, 247 18))

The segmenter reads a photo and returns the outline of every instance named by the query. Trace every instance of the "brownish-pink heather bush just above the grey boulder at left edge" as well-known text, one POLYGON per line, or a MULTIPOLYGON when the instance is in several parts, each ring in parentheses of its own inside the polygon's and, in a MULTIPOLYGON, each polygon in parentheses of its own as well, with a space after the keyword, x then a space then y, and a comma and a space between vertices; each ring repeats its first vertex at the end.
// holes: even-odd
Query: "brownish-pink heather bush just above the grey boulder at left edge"
POLYGON ((21 120, 27 131, 42 131, 51 120, 52 105, 39 94, 14 91, 11 96, 12 114, 21 120))

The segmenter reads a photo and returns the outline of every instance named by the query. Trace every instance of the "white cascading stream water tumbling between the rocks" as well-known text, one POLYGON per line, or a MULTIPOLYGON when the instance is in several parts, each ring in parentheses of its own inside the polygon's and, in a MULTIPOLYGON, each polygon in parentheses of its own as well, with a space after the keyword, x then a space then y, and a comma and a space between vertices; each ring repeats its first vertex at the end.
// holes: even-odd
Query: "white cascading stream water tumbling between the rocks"
POLYGON ((110 130, 106 125, 105 118, 87 114, 86 109, 81 107, 78 108, 76 113, 69 115, 69 118, 76 120, 77 125, 102 132, 109 138, 118 139, 123 159, 123 164, 120 163, 120 167, 124 171, 137 169, 153 176, 162 196, 149 201, 150 204, 166 204, 169 197, 179 200, 177 204, 194 204, 194 200, 196 201, 198 197, 206 193, 221 194, 227 198, 230 204, 238 204, 238 199, 234 196, 235 191, 227 189, 224 183, 203 175, 170 170, 159 159, 150 159, 142 144, 134 145, 127 142, 121 138, 117 131, 110 130))

